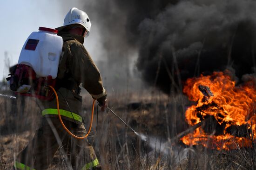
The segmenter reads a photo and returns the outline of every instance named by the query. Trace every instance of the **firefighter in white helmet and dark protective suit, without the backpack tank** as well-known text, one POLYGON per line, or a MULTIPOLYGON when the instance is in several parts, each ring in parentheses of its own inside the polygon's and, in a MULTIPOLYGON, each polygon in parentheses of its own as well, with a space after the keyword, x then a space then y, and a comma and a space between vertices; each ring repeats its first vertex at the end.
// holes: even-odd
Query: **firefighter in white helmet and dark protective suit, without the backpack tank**
MULTIPOLYGON (((63 48, 55 89, 59 96, 61 118, 69 131, 77 136, 84 136, 86 133, 81 117, 81 86, 100 103, 102 111, 107 107, 107 92, 103 88, 100 72, 83 46, 90 29, 88 15, 77 8, 70 9, 64 25, 56 28, 58 35, 63 38, 63 48)), ((15 169, 46 169, 58 149, 66 155, 67 169, 101 169, 88 141, 73 138, 62 127, 56 109, 56 98, 40 103, 44 108, 40 128, 16 158, 15 169)))

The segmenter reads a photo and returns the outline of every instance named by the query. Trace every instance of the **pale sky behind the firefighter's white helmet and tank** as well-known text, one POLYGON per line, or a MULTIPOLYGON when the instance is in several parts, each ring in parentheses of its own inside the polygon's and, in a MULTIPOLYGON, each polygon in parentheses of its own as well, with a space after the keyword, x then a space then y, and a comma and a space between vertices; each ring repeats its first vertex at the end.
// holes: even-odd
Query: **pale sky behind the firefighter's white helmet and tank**
MULTIPOLYGON (((12 66, 18 63, 20 50, 31 32, 38 31, 40 26, 48 28, 62 26, 70 8, 79 8, 80 6, 81 8, 84 6, 86 8, 86 3, 89 1, 1 0, 0 80, 7 77, 8 70, 6 65, 12 66), (6 57, 9 59, 6 60, 6 57)), ((104 49, 101 48, 99 43, 98 31, 97 23, 92 21, 90 36, 85 39, 84 43, 95 62, 104 60, 104 58, 101 58, 104 49), (97 50, 95 50, 95 46, 97 46, 97 50)))

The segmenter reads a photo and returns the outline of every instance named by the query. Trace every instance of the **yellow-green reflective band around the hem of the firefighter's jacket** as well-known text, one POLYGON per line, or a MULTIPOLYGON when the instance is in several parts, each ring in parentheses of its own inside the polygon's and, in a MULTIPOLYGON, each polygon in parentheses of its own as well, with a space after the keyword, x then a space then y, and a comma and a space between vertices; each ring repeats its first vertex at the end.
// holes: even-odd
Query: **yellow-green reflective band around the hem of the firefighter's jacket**
MULTIPOLYGON (((58 110, 55 109, 55 108, 47 108, 47 109, 44 109, 42 111, 42 115, 46 115, 46 114, 55 114, 55 115, 58 115, 58 110)), ((74 120, 77 120, 77 121, 80 121, 82 122, 82 117, 79 116, 78 114, 76 113, 73 113, 71 114, 71 112, 67 111, 67 110, 62 110, 60 109, 60 114, 61 116, 65 116, 65 117, 68 117, 70 119, 74 119, 74 120), (73 115, 73 116, 72 116, 73 115), (73 118, 74 117, 74 118, 73 118)))

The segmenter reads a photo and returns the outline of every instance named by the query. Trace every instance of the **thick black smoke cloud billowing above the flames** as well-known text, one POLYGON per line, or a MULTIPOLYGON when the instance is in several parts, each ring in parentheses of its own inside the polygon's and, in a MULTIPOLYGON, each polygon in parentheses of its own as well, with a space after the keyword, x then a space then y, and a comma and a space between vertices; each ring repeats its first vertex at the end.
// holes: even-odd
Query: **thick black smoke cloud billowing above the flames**
POLYGON ((200 74, 255 72, 255 0, 99 0, 85 8, 109 59, 137 50, 143 80, 167 94, 200 74))

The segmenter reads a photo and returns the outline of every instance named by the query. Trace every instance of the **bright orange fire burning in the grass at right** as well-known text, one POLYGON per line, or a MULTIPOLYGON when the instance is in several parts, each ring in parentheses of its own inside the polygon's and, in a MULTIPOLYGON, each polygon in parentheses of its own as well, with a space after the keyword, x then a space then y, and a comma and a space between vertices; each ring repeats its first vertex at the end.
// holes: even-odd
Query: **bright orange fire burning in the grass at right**
POLYGON ((197 102, 187 109, 186 121, 194 126, 204 120, 201 127, 181 139, 184 144, 229 150, 250 147, 256 140, 256 88, 253 82, 236 86, 227 71, 214 72, 210 76, 188 79, 183 92, 189 100, 197 102), (207 121, 209 118, 213 121, 207 121), (234 129, 245 132, 241 134, 240 130, 234 129))

